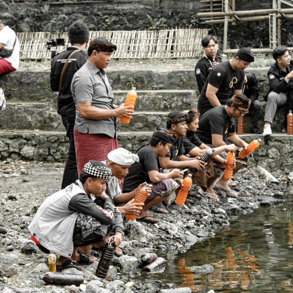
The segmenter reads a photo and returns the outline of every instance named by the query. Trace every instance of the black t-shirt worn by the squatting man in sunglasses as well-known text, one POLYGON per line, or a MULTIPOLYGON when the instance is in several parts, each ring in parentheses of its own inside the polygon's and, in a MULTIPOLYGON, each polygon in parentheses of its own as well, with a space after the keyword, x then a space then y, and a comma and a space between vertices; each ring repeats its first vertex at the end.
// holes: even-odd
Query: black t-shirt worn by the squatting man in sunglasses
POLYGON ((195 134, 205 144, 212 144, 212 134, 223 135, 225 141, 228 132, 236 132, 236 119, 229 117, 225 105, 221 105, 202 115, 195 134))

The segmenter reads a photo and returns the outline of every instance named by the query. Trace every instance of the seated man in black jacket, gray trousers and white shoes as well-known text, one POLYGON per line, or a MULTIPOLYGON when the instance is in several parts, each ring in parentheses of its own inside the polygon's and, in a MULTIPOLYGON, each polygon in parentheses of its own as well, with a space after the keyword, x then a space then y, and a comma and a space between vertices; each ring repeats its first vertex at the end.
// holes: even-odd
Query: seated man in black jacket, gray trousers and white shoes
POLYGON ((288 49, 282 46, 273 50, 273 57, 276 63, 268 71, 270 89, 265 96, 263 136, 272 134, 271 124, 277 107, 286 105, 286 115, 293 110, 293 60, 290 61, 288 49))

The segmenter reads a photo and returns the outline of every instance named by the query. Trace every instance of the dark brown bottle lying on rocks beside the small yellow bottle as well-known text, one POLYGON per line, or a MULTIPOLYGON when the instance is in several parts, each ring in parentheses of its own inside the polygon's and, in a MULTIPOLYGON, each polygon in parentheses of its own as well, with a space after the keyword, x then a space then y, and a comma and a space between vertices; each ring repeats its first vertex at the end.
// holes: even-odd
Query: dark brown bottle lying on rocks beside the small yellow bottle
POLYGON ((83 275, 61 274, 47 272, 45 275, 39 275, 40 280, 44 280, 47 284, 52 285, 75 285, 80 286, 84 282, 83 275))

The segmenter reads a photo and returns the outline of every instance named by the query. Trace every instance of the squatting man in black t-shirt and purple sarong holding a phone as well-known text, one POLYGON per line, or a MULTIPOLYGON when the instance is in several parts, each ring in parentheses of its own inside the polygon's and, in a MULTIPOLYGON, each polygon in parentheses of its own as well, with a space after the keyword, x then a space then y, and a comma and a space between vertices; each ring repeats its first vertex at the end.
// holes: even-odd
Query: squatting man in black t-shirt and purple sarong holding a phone
MULTIPOLYGON (((139 161, 134 162, 129 168, 129 173, 124 179, 123 192, 130 193, 144 182, 152 185, 151 194, 147 197, 139 216, 137 216, 137 221, 158 222, 159 219, 147 211, 160 203, 164 203, 162 207, 157 207, 156 211, 167 213, 166 207, 176 197, 175 191, 178 192, 178 183, 182 183, 177 178, 183 176, 183 172, 179 169, 173 169, 167 174, 160 173, 158 163, 158 157, 163 157, 168 153, 172 144, 175 143, 176 137, 177 135, 172 132, 155 131, 149 144, 143 145, 136 151, 139 161)), ((127 197, 124 202, 130 199, 131 197, 127 197)), ((117 200, 119 200, 119 197, 117 200)))

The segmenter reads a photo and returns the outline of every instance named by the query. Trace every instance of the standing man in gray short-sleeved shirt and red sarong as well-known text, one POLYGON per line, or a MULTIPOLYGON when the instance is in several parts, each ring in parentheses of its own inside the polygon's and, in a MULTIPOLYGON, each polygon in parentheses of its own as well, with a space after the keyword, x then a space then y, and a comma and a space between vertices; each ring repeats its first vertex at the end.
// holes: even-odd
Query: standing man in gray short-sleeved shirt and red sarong
POLYGON ((114 104, 113 91, 104 68, 116 46, 96 38, 88 47, 88 61, 74 74, 71 92, 76 103, 74 144, 78 176, 89 160, 105 161, 119 147, 116 117, 132 117, 133 107, 114 104))

